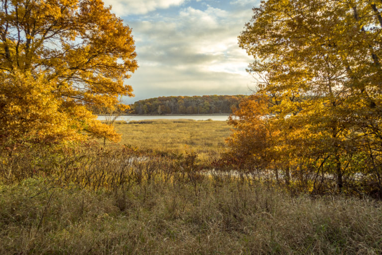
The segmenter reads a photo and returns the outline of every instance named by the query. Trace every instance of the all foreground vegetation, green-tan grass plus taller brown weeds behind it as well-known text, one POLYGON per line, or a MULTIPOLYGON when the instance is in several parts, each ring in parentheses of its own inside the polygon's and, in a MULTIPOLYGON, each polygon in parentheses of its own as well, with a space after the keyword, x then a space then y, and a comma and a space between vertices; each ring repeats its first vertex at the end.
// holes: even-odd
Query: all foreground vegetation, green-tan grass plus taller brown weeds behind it
POLYGON ((193 154, 43 152, 1 167, 12 172, 1 174, 0 254, 382 252, 376 200, 291 195, 250 173, 201 169, 193 154))

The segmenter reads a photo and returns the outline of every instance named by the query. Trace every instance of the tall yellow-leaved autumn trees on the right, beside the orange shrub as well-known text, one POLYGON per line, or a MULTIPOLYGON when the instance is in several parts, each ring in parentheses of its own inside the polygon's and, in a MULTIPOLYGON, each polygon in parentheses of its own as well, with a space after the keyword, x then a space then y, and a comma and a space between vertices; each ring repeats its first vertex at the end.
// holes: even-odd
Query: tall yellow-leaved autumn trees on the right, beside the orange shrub
POLYGON ((273 162, 310 190, 373 183, 382 196, 381 10, 382 1, 262 1, 239 36, 280 131, 273 162))

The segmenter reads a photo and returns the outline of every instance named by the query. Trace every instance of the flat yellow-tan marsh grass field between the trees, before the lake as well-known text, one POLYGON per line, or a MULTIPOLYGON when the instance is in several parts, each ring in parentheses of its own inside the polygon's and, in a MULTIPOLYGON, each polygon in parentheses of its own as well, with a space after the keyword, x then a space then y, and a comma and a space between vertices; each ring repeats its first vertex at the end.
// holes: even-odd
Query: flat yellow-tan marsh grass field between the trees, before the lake
MULTIPOLYGON (((119 122, 120 123, 120 122, 119 122)), ((120 144, 160 153, 196 152, 200 159, 216 155, 225 148, 230 126, 225 121, 143 120, 115 124, 122 135, 120 144)))

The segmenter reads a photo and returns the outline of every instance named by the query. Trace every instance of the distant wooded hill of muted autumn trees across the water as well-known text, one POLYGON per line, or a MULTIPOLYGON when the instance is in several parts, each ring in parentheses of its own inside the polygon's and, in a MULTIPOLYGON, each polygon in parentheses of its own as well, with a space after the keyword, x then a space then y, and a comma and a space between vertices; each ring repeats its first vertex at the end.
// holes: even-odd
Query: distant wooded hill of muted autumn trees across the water
POLYGON ((136 101, 131 114, 232 113, 246 95, 162 96, 136 101))

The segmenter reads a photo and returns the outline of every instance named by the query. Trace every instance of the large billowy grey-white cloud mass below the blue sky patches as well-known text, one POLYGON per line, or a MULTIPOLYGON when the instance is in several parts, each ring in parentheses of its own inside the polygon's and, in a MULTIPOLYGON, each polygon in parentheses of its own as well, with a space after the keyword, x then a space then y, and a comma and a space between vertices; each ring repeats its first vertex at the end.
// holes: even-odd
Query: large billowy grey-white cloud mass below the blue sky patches
MULTIPOLYGON (((247 13, 249 19, 251 11, 247 13)), ((135 38, 142 42, 137 44, 138 59, 161 66, 243 74, 251 58, 237 44, 245 21, 234 16, 211 6, 205 10, 188 7, 175 17, 136 22, 132 24, 135 38)))

